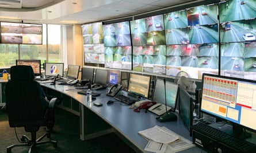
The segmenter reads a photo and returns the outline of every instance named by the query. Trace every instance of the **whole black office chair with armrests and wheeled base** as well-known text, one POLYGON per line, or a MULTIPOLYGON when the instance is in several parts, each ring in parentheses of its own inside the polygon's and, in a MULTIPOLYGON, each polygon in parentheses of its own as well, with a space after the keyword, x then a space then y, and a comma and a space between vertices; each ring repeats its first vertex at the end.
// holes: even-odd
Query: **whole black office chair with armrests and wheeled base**
MULTIPOLYGON (((29 152, 38 144, 52 143, 54 147, 57 142, 51 140, 51 130, 55 123, 55 101, 45 100, 44 91, 40 84, 34 79, 31 66, 17 65, 10 69, 11 80, 6 83, 6 111, 9 117, 10 127, 24 127, 26 132, 31 133, 31 139, 22 136, 20 144, 7 147, 11 152, 13 147, 30 146, 29 152), (41 126, 47 127, 47 132, 36 139, 36 132, 41 126), (41 142, 47 136, 48 141, 41 142)), ((20 141, 19 141, 20 142, 20 141)))

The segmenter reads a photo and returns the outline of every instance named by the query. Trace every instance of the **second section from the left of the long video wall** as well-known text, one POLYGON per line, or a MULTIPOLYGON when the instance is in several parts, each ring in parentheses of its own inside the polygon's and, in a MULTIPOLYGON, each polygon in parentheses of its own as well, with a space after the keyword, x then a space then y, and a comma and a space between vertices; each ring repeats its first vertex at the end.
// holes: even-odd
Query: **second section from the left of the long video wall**
POLYGON ((105 68, 132 69, 129 21, 103 25, 105 68))

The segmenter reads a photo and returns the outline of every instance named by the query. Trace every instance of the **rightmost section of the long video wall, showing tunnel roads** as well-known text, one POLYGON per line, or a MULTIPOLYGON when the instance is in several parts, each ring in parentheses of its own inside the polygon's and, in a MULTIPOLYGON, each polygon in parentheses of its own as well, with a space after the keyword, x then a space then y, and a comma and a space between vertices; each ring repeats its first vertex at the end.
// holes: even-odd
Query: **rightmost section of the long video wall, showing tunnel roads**
POLYGON ((255 1, 225 1, 219 11, 221 75, 256 80, 255 1))

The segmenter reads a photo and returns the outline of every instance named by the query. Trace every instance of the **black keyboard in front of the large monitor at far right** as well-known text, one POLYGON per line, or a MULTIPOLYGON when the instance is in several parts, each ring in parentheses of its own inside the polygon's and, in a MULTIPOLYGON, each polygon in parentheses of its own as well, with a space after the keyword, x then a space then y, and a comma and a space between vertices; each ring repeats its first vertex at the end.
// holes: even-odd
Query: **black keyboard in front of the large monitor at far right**
POLYGON ((192 126, 192 129, 217 140, 217 142, 221 142, 227 146, 235 148, 235 150, 238 150, 239 152, 249 152, 250 150, 255 149, 256 146, 253 143, 247 142, 243 139, 235 138, 232 135, 217 130, 216 128, 213 128, 204 123, 197 123, 192 126))

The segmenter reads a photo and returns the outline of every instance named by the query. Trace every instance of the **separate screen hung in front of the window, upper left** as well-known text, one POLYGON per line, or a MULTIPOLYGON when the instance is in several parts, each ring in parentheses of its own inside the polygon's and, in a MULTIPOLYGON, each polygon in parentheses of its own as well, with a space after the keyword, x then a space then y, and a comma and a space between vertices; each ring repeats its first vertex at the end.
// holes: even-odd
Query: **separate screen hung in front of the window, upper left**
POLYGON ((0 22, 2 44, 42 44, 42 24, 0 22))

